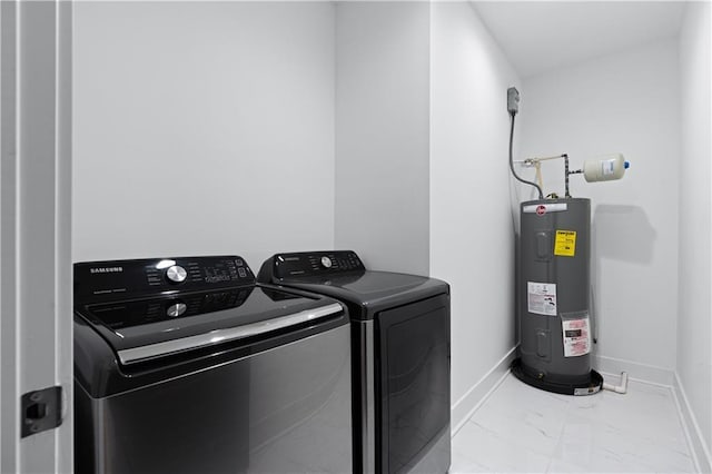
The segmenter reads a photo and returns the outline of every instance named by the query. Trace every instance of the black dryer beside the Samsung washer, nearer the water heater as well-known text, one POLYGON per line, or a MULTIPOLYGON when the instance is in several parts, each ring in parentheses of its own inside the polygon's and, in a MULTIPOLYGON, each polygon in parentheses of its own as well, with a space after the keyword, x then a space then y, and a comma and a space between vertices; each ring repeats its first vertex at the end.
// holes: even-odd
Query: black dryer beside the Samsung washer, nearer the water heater
POLYGON ((354 472, 447 472, 449 286, 367 270, 350 250, 277 254, 263 264, 258 280, 318 293, 348 307, 354 472))

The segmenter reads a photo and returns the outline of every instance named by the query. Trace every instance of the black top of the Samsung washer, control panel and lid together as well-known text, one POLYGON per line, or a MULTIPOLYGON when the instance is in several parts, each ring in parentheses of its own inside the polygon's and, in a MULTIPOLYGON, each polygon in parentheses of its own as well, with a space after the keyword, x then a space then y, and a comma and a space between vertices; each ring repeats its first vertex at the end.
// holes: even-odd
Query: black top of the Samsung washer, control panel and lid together
POLYGON ((322 296, 256 285, 237 256, 75 264, 75 312, 122 366, 264 338, 344 314, 322 296))

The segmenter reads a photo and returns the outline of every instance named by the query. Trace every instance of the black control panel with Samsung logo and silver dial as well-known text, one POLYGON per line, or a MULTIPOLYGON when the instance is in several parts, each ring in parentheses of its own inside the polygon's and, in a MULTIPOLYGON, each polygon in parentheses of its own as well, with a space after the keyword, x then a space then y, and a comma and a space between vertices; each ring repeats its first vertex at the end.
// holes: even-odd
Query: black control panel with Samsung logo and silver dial
POLYGON ((80 300, 254 284, 255 275, 238 256, 75 264, 75 297, 80 300))

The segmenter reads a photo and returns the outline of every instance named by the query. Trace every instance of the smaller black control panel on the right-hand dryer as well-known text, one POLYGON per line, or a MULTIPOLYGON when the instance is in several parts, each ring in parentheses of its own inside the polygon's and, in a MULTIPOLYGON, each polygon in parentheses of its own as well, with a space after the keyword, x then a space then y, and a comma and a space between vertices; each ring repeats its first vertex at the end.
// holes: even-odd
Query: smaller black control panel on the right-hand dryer
POLYGON ((364 271, 366 268, 355 251, 326 250, 278 254, 271 258, 278 279, 364 271))

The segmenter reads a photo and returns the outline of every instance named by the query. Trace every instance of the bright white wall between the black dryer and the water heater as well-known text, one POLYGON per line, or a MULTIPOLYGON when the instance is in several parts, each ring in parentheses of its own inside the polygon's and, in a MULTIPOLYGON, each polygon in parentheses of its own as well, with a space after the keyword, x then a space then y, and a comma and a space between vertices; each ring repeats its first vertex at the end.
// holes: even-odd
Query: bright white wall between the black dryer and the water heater
POLYGON ((456 425, 515 344, 506 90, 521 87, 468 2, 432 16, 431 275, 452 285, 456 425))

